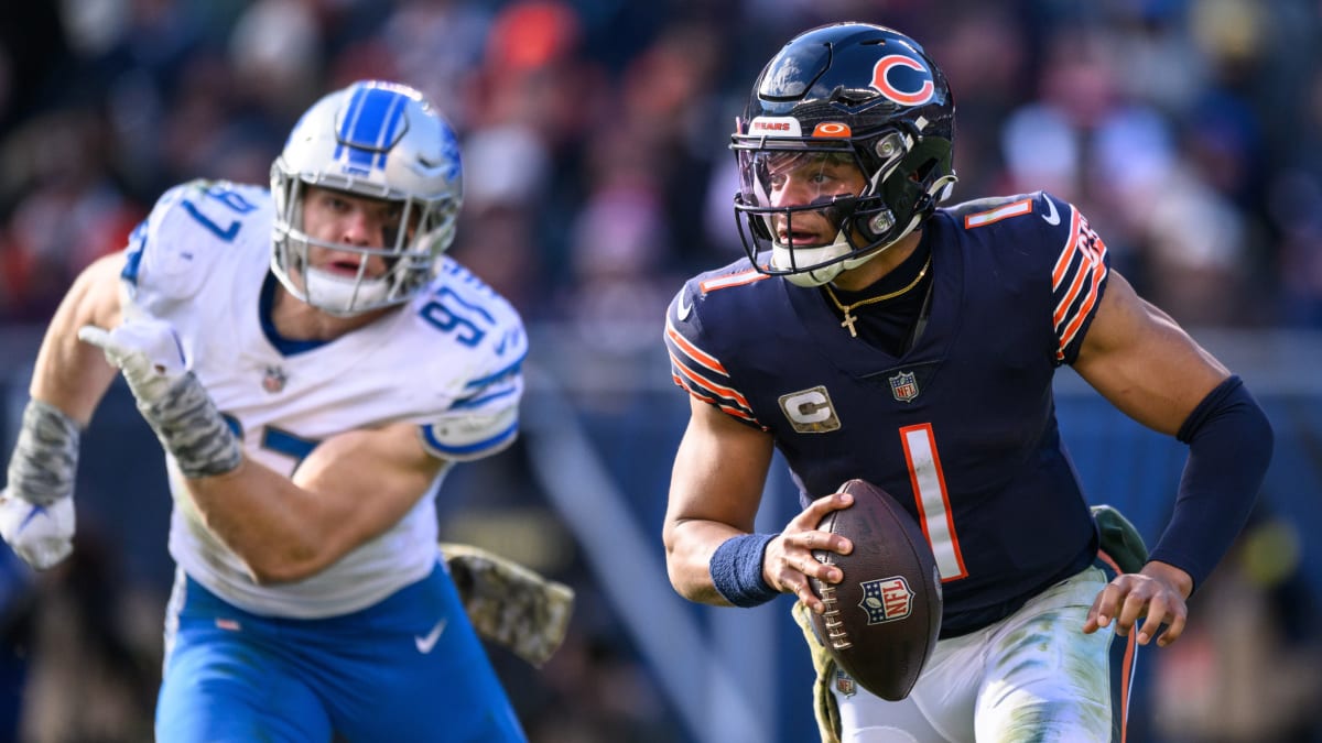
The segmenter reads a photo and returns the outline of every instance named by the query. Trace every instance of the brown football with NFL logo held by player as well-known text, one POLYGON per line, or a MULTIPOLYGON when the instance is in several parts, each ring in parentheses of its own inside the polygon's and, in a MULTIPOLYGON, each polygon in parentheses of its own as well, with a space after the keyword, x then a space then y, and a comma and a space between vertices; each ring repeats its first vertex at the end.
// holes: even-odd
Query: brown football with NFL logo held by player
POLYGON ((854 550, 814 550, 845 578, 834 586, 812 580, 826 611, 810 616, 837 665, 863 689, 896 702, 908 697, 936 646, 941 575, 923 530, 890 493, 863 480, 839 492, 853 494, 853 505, 832 512, 818 529, 847 537, 854 550))

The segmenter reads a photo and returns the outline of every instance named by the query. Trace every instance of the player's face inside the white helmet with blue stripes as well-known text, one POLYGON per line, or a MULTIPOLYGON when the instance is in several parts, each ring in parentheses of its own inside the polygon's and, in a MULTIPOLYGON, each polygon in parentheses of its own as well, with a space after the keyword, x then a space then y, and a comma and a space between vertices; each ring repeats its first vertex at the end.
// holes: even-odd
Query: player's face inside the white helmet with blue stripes
MULTIPOLYGON (((398 202, 308 186, 303 197, 303 231, 319 241, 356 247, 394 246, 403 210, 403 205, 398 202)), ((308 247, 308 262, 315 268, 332 274, 357 276, 364 258, 368 262, 365 278, 373 279, 386 272, 386 259, 381 255, 364 256, 317 245, 308 247)))

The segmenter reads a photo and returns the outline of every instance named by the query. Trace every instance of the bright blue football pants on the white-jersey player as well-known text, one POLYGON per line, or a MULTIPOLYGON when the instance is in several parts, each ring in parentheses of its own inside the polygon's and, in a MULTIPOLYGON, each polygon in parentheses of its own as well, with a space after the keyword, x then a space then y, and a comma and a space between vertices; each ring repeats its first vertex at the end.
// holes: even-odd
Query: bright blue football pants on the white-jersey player
POLYGON ((156 706, 163 743, 525 740, 440 563, 373 607, 313 620, 253 615, 182 580, 156 706))

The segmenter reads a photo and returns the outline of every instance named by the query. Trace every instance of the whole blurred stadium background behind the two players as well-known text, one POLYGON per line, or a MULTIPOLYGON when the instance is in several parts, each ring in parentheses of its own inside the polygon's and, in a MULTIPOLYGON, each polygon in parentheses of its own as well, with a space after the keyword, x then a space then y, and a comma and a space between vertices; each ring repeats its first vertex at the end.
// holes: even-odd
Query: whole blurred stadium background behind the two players
MULTIPOLYGON (((1044 188, 1249 382, 1277 452, 1253 522, 1149 654, 1133 740, 1322 740, 1322 3, 1318 0, 52 0, 0 4, 0 453, 79 268, 193 177, 266 182, 293 118, 365 77, 464 139, 455 255, 533 332, 526 430, 459 468, 446 537, 572 584, 559 654, 492 656, 539 743, 801 742, 788 599, 687 604, 660 542, 686 399, 662 312, 739 255, 734 116, 833 20, 921 40, 958 103, 956 198, 1044 188), (1314 537, 1307 537, 1313 534, 1314 537)), ((1154 541, 1183 447, 1059 374, 1095 502, 1154 541)), ((75 557, 0 558, 0 739, 151 738, 171 563, 160 453, 127 390, 89 431, 75 557)), ((3 473, 0 473, 3 477, 3 473)), ((760 526, 795 510, 768 485, 760 526)), ((443 693, 438 690, 438 693, 443 693)))

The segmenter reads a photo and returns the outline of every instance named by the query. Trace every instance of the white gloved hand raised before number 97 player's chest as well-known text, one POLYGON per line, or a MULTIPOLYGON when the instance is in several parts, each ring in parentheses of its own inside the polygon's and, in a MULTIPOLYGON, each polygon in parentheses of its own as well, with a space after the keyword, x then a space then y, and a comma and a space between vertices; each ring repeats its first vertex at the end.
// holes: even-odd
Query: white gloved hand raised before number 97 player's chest
POLYGON ((78 337, 100 348, 106 360, 124 373, 134 397, 147 405, 163 399, 188 372, 178 336, 164 320, 126 320, 114 331, 85 325, 78 337))

